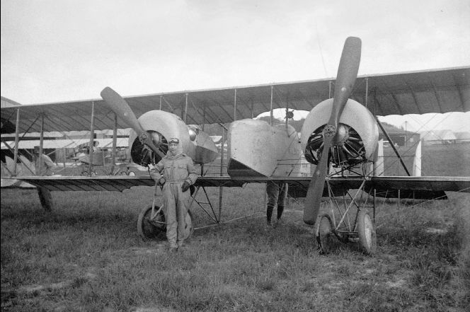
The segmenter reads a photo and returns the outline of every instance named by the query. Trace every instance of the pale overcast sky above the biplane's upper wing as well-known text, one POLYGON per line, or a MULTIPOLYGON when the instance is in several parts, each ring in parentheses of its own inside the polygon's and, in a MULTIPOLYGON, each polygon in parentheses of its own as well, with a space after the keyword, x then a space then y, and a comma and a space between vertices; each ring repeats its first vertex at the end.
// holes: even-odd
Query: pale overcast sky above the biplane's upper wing
POLYGON ((362 39, 360 75, 468 66, 470 1, 1 0, 1 96, 329 78, 350 35, 362 39))

